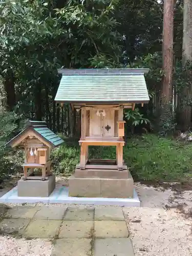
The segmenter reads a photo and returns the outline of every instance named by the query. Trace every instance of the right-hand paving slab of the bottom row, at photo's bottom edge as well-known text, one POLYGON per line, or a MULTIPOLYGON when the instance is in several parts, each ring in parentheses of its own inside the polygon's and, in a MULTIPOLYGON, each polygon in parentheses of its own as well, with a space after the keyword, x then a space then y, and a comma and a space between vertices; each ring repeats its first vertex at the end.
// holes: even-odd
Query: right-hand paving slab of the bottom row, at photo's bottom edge
POLYGON ((134 256, 129 238, 96 239, 93 256, 134 256))

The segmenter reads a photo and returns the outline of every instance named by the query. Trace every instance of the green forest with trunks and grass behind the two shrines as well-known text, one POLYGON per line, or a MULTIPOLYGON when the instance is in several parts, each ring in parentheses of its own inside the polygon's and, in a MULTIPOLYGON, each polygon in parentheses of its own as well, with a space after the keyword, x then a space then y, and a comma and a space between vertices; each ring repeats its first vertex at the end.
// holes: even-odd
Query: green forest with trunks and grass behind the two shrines
POLYGON ((0 49, 0 180, 22 171, 23 152, 4 145, 28 119, 65 138, 53 169, 73 172, 80 116, 54 101, 62 67, 149 68, 150 102, 124 113, 125 162, 135 180, 190 181, 192 0, 1 0, 0 49))

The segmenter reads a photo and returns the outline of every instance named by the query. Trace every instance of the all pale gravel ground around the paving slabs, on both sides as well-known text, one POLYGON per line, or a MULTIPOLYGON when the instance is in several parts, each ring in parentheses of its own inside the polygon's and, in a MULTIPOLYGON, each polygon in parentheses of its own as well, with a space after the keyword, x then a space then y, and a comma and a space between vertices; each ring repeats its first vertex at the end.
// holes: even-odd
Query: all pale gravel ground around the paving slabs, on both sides
MULTIPOLYGON (((174 191, 139 183, 135 186, 141 207, 123 208, 135 256, 191 256, 192 191, 174 191)), ((63 206, 63 204, 56 205, 63 206)), ((75 206, 85 207, 85 205, 75 206)), ((91 205, 86 206, 91 207, 91 205)), ((50 256, 51 251, 50 241, 0 236, 1 256, 50 256)))

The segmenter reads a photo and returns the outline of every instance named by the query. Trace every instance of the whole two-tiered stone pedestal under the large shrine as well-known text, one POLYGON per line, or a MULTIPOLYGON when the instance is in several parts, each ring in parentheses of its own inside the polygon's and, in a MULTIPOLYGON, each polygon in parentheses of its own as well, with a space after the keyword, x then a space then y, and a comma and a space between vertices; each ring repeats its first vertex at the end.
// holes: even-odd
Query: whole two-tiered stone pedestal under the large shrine
POLYGON ((76 169, 69 178, 70 197, 133 198, 133 190, 127 169, 76 169))

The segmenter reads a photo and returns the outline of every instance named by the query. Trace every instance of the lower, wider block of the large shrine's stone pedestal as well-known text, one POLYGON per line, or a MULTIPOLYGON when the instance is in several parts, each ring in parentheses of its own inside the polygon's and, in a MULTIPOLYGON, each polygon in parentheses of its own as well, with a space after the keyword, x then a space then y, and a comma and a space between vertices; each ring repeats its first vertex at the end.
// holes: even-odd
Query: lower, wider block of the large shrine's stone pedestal
MULTIPOLYGON (((107 171, 107 170, 106 170, 107 171)), ((69 178, 70 197, 133 198, 134 181, 128 178, 69 178)))

